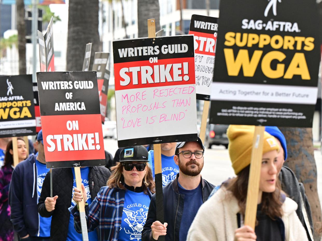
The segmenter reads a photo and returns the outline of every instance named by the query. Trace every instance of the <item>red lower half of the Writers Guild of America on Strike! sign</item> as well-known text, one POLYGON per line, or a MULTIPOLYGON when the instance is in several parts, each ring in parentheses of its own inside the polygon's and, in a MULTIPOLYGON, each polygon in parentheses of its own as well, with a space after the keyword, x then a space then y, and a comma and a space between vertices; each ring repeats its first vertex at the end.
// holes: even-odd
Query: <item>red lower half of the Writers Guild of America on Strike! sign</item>
MULTIPOLYGON (((78 160, 94 160, 94 159, 105 159, 104 141, 101 126, 101 115, 100 114, 89 114, 89 115, 51 115, 41 117, 43 127, 43 145, 45 149, 46 162, 56 161, 78 161, 78 160), (78 129, 67 129, 67 121, 78 121, 78 129), (98 133, 95 134, 95 133, 98 133), (61 142, 61 151, 58 151, 56 139, 51 141, 55 145, 53 151, 48 151, 52 148, 52 143, 47 142, 48 135, 71 135, 82 134, 93 134, 91 144, 89 145, 88 135, 86 136, 85 142, 79 141, 80 138, 72 139, 71 146, 74 150, 70 150, 70 147, 64 143, 63 139, 61 142), (91 146, 94 149, 86 150, 91 146), (51 144, 51 145, 50 145, 51 144), (80 150, 81 148, 82 150, 80 150), (68 150, 66 151, 65 148, 68 150), (76 150, 78 149, 78 150, 76 150)), ((75 122, 74 122, 75 123, 75 122)))

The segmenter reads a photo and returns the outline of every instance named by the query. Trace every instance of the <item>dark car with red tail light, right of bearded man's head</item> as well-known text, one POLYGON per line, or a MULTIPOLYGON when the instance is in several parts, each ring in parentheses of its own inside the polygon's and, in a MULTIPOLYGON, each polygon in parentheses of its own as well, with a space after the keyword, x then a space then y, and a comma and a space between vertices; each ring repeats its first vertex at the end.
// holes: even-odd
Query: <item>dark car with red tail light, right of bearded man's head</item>
POLYGON ((211 148, 213 145, 223 145, 228 148, 227 131, 228 125, 210 124, 206 129, 205 146, 211 148))

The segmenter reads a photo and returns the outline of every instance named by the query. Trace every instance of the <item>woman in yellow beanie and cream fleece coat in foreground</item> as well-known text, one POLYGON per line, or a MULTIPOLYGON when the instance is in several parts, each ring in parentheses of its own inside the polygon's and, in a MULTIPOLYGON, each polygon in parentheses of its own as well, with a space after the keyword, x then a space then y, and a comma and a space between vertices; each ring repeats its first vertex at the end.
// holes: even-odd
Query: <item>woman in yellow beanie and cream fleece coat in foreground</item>
POLYGON ((264 132, 260 190, 255 230, 243 225, 246 207, 254 126, 230 125, 229 155, 237 177, 221 188, 198 210, 187 241, 307 241, 296 214, 297 204, 281 191, 277 176, 279 145, 264 132))

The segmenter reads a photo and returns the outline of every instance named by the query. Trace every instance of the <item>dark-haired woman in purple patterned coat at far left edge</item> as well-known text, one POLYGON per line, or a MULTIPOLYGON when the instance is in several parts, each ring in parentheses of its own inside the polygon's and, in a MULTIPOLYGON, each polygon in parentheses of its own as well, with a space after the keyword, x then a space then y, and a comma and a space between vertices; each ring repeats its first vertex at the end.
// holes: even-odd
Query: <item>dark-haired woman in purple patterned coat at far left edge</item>
MULTIPOLYGON (((17 138, 18 158, 22 162, 27 157, 27 148, 23 139, 17 138)), ((4 165, 0 169, 0 240, 13 240, 14 228, 10 221, 10 206, 8 203, 8 191, 13 168, 13 145, 9 141, 5 150, 4 165)))

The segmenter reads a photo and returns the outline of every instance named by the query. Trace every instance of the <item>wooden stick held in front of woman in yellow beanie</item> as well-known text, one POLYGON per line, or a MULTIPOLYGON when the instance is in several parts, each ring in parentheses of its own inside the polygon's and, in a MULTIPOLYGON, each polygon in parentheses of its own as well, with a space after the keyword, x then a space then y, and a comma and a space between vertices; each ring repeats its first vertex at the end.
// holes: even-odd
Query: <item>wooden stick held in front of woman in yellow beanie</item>
POLYGON ((247 200, 244 224, 255 229, 258 193, 260 186, 260 167, 263 156, 264 126, 256 126, 251 150, 251 167, 249 171, 247 200))

